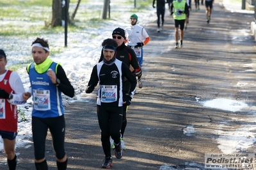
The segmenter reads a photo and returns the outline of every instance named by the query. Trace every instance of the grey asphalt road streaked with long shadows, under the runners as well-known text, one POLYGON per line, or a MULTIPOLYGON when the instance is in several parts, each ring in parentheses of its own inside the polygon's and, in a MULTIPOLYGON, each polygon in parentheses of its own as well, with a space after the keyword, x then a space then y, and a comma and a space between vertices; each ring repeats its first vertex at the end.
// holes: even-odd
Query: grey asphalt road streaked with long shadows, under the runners
MULTIPOLYGON (((156 22, 146 27, 151 41, 145 46, 143 88, 138 89, 128 111, 127 150, 111 169, 204 169, 205 153, 221 153, 216 139, 221 130, 236 129, 252 120, 255 107, 255 42, 250 35, 253 15, 230 13, 214 6, 206 23, 204 10, 191 12, 184 47, 173 49, 173 19, 157 33, 156 22), (245 67, 246 64, 250 64, 245 67), (236 86, 243 82, 244 86, 236 86), (214 98, 242 100, 250 107, 230 112, 207 108, 214 98), (194 135, 183 130, 193 125, 194 135)), ((66 107, 68 169, 100 169, 104 154, 100 144, 95 93, 84 102, 66 107)), ((56 169, 51 141, 47 139, 49 169, 56 169)), ((247 152, 254 153, 253 148, 247 152)), ((35 169, 33 147, 18 148, 17 169, 35 169)), ((3 154, 0 157, 4 161, 3 154)), ((0 169, 7 169, 1 164, 0 169)))

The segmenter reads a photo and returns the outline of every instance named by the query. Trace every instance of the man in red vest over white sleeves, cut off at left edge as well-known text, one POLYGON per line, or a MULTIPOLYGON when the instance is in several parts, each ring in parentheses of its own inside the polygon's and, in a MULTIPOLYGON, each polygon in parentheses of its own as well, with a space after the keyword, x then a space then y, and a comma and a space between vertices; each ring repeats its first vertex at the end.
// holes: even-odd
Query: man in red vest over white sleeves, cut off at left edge
POLYGON ((4 154, 9 169, 16 169, 15 138, 17 136, 18 104, 25 104, 25 92, 19 75, 6 69, 7 59, 0 49, 0 135, 4 143, 4 154))

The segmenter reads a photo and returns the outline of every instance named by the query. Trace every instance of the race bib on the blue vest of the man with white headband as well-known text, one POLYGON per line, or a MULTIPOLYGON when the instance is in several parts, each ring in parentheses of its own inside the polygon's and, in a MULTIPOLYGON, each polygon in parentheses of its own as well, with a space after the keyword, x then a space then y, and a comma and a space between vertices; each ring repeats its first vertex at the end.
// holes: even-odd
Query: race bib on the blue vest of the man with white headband
POLYGON ((50 90, 33 89, 33 102, 36 111, 51 110, 50 90))

